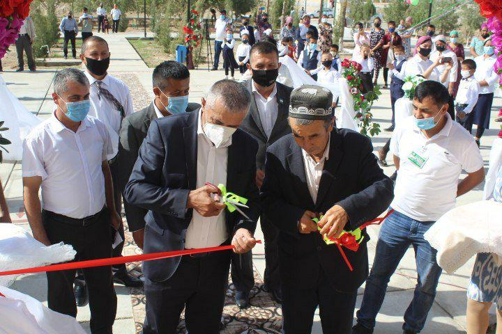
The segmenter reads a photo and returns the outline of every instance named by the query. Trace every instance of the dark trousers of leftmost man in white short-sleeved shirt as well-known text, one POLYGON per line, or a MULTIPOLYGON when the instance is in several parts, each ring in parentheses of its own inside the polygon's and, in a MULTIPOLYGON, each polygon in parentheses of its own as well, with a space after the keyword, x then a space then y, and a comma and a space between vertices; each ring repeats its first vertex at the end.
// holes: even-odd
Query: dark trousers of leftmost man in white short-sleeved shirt
MULTIPOLYGON (((63 241, 77 250, 75 261, 95 260, 110 257, 110 219, 103 209, 89 225, 75 225, 70 218, 42 212, 42 222, 52 244, 63 241)), ((49 308, 64 315, 77 316, 77 304, 73 295, 75 271, 47 272, 47 302, 49 308)), ((91 309, 91 332, 111 334, 116 315, 116 294, 109 266, 82 269, 89 291, 91 309)))

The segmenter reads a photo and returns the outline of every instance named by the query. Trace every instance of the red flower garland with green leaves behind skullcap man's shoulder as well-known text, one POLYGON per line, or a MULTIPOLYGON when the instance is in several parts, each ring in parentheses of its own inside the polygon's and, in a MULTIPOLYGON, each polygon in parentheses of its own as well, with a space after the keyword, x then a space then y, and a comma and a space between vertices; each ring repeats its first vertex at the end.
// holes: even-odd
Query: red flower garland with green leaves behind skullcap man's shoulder
POLYGON ((356 111, 356 120, 358 120, 358 125, 360 127, 360 133, 367 136, 368 132, 371 136, 376 136, 381 132, 380 125, 377 122, 373 122, 373 113, 371 112, 371 107, 373 102, 378 99, 380 95, 380 90, 378 86, 374 87, 374 90, 368 92, 366 95, 361 93, 361 81, 358 76, 358 72, 363 69, 360 63, 356 61, 350 61, 345 58, 342 61, 342 75, 347 79, 349 84, 349 93, 351 93, 354 101, 354 111, 356 111))

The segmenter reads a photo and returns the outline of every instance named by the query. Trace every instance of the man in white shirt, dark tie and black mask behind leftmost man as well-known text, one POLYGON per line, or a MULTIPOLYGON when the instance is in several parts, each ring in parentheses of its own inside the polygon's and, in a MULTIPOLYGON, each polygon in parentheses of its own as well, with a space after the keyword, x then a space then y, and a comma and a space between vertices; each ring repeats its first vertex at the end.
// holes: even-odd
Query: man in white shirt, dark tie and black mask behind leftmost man
MULTIPOLYGON (((119 79, 107 73, 110 53, 107 42, 99 36, 91 36, 82 43, 82 54, 80 59, 86 66, 85 75, 91 84, 91 110, 89 115, 98 118, 103 122, 109 132, 112 141, 112 152, 109 152, 107 159, 112 178, 114 181, 114 196, 116 211, 121 212, 122 199, 121 191, 117 181, 120 178, 121 167, 116 164, 116 154, 119 152, 119 133, 123 118, 134 112, 132 109, 132 97, 129 88, 119 79)), ((123 238, 123 225, 119 228, 119 233, 123 238)), ((113 250, 114 256, 121 256, 123 242, 113 250)), ((119 264, 114 266, 114 280, 126 286, 138 287, 142 283, 137 278, 129 276, 126 266, 119 264)))

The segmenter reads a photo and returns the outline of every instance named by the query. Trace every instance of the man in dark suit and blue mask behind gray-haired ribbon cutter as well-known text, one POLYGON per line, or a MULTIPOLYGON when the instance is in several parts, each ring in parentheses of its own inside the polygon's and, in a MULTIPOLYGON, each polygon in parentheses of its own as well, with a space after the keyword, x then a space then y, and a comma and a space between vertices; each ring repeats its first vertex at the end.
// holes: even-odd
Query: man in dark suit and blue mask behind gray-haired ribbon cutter
MULTIPOLYGON (((149 106, 127 116, 123 122, 119 141, 117 161, 121 166, 119 186, 123 192, 135 165, 139 147, 142 145, 152 120, 171 116, 176 113, 194 111, 200 108, 198 103, 188 102, 190 90, 190 72, 177 61, 165 61, 153 70, 153 94, 155 99, 149 106)), ((132 237, 139 248, 143 248, 144 216, 148 210, 130 205, 123 201, 126 218, 132 237)))

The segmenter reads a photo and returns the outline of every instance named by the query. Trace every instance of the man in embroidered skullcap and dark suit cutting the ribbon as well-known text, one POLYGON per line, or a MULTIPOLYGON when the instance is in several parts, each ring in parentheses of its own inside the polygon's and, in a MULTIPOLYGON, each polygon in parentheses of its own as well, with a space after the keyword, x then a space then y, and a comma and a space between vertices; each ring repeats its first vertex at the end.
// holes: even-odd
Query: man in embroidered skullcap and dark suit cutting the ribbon
POLYGON ((293 134, 266 152, 263 215, 280 230, 279 267, 284 333, 310 333, 321 311, 324 333, 351 332, 358 287, 368 274, 364 239, 354 252, 327 245, 379 216, 393 199, 393 183, 377 164, 369 138, 333 126, 333 95, 319 86, 291 93, 293 134), (318 225, 312 218, 324 214, 318 225))

